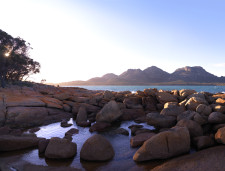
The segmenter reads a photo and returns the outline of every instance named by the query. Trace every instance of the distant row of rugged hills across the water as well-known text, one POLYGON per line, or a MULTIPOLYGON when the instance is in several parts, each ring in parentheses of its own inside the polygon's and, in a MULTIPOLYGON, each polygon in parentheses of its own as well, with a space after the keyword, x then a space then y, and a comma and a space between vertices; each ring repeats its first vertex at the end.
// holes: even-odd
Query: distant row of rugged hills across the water
POLYGON ((120 75, 113 73, 87 81, 59 83, 60 86, 76 85, 218 85, 225 84, 225 77, 217 77, 200 66, 178 68, 173 73, 151 66, 145 70, 128 69, 120 75))

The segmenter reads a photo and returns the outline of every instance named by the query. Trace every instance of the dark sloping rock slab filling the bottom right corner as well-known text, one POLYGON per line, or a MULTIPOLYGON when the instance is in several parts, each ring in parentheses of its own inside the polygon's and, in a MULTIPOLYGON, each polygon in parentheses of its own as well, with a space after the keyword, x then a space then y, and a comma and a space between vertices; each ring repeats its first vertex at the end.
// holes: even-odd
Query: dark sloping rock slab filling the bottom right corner
POLYGON ((174 158, 151 171, 216 171, 224 170, 225 146, 208 148, 174 158))

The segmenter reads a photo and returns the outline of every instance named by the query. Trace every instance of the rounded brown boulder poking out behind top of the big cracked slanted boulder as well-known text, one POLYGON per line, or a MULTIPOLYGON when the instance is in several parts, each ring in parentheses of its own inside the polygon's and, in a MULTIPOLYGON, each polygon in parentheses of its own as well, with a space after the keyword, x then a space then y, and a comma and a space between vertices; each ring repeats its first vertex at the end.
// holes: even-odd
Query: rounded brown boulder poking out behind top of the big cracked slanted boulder
POLYGON ((177 123, 177 126, 187 127, 191 137, 198 137, 203 135, 202 127, 195 121, 183 119, 177 123))

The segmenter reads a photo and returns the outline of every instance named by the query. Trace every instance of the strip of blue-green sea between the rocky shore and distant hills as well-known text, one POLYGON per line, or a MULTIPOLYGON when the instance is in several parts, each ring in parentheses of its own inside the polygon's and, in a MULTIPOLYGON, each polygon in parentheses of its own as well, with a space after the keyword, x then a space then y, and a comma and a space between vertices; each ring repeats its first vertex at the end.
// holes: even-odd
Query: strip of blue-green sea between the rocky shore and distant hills
POLYGON ((157 88, 158 90, 181 90, 192 89, 197 92, 210 92, 210 93, 225 93, 225 86, 75 86, 82 87, 88 90, 109 90, 109 91, 143 91, 147 88, 157 88))

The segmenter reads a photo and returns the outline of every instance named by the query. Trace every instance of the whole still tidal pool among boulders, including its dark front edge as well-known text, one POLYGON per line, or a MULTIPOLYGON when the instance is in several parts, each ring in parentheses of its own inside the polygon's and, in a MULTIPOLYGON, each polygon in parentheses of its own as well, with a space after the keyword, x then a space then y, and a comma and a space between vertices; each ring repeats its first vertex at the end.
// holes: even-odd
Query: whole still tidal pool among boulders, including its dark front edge
MULTIPOLYGON (((122 122, 117 125, 117 128, 125 128, 129 131, 129 136, 125 135, 114 135, 109 132, 101 133, 105 138, 107 138, 112 144, 115 156, 112 160, 107 162, 88 162, 80 159, 80 150, 84 142, 96 134, 90 133, 89 128, 83 128, 76 125, 76 122, 71 119, 69 123, 73 125, 68 128, 62 128, 60 126, 60 122, 53 123, 47 126, 40 127, 41 129, 36 132, 38 137, 51 138, 51 137, 60 137, 63 138, 65 132, 67 132, 71 128, 79 129, 79 133, 73 135, 73 142, 77 144, 77 154, 74 158, 68 160, 50 160, 45 159, 43 156, 39 156, 38 149, 27 149, 27 150, 19 150, 14 152, 5 152, 0 154, 0 164, 7 162, 10 167, 10 170, 16 170, 14 167, 16 165, 21 164, 22 162, 31 163, 34 165, 42 165, 42 166, 69 166, 72 168, 78 168, 87 171, 101 171, 101 170, 149 170, 154 168, 155 166, 163 163, 163 160, 160 161, 150 161, 150 162, 141 162, 136 163, 133 161, 133 155, 138 148, 130 147, 130 138, 131 131, 128 126, 132 124, 137 124, 133 121, 122 122)), ((149 126, 145 123, 141 123, 144 128, 154 129, 154 127, 149 126)), ((116 128, 116 127, 115 127, 116 128)), ((112 129, 115 129, 112 128, 112 129)))

